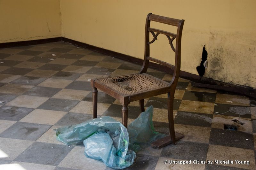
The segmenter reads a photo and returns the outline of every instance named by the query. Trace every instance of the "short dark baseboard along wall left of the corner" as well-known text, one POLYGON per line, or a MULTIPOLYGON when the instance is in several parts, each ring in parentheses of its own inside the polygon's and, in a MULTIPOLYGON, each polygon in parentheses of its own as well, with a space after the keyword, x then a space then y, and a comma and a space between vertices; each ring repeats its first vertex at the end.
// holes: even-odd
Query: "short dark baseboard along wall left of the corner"
POLYGON ((57 41, 62 41, 62 37, 46 38, 46 39, 40 39, 40 40, 29 40, 29 41, 17 41, 17 42, 10 42, 10 43, 0 43, 0 48, 36 45, 36 44, 43 44, 43 43, 52 43, 57 41))

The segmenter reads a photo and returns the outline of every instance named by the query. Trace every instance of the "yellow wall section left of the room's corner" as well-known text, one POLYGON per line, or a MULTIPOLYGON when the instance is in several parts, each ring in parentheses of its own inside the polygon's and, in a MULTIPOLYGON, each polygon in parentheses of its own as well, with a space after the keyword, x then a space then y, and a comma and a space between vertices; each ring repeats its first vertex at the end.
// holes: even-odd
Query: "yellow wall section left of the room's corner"
POLYGON ((0 43, 60 36, 59 0, 0 0, 0 43))

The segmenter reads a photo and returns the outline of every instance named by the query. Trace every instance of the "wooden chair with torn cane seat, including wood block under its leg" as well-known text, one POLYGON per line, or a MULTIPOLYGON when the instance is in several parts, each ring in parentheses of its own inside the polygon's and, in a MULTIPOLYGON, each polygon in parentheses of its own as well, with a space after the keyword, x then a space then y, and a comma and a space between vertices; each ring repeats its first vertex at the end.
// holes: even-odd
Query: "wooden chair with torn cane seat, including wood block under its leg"
POLYGON ((169 129, 170 136, 158 140, 155 142, 156 148, 161 148, 167 144, 175 143, 177 140, 183 136, 174 131, 174 122, 173 122, 173 98, 176 85, 179 79, 180 73, 180 46, 181 46, 181 34, 183 28, 184 20, 173 19, 168 17, 163 17, 149 13, 146 19, 146 28, 145 28, 145 55, 142 68, 137 74, 129 74, 122 76, 114 76, 107 78, 100 78, 91 80, 92 85, 92 99, 93 99, 93 118, 97 118, 97 89, 102 90, 108 95, 118 99, 123 105, 122 107, 122 123, 127 128, 128 120, 128 104, 132 101, 139 100, 141 112, 144 112, 144 99, 148 97, 153 97, 161 94, 168 94, 168 120, 169 120, 169 129), (177 27, 177 33, 171 33, 163 31, 156 28, 150 27, 150 21, 160 22, 177 27), (153 40, 149 41, 149 32, 153 35, 153 40), (169 63, 152 58, 149 55, 149 44, 154 43, 157 40, 159 34, 164 34, 167 36, 172 50, 175 52, 175 66, 172 66, 169 63), (176 38, 176 46, 172 44, 173 40, 176 38), (170 83, 155 78, 151 75, 148 75, 148 63, 149 61, 156 62, 163 66, 170 67, 174 70, 172 80, 170 83))

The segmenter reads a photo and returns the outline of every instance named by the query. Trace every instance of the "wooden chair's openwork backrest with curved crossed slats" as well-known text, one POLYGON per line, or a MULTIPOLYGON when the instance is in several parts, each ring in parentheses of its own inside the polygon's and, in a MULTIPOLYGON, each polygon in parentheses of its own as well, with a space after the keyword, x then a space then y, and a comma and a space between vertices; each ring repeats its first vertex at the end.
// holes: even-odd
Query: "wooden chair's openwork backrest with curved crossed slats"
POLYGON ((181 46, 181 35, 182 35, 182 28, 184 25, 184 19, 173 19, 173 18, 168 18, 168 17, 163 17, 159 15, 155 15, 152 13, 149 13, 146 19, 146 27, 145 27, 145 53, 144 53, 144 63, 143 66, 140 70, 140 73, 146 73, 148 69, 148 63, 149 61, 156 62, 158 64, 161 64, 163 66, 167 66, 171 69, 173 69, 173 77, 170 82, 170 86, 174 83, 174 86, 176 88, 177 81, 179 79, 179 74, 180 74, 180 46, 181 46), (155 21, 155 22, 160 22, 163 24, 168 24, 172 26, 177 27, 177 33, 171 33, 167 32, 164 30, 156 29, 156 28, 151 28, 150 27, 150 21, 155 21), (153 35, 153 40, 149 40, 149 32, 153 35), (157 36, 159 34, 164 34, 167 36, 169 43, 171 45, 172 50, 175 52, 175 65, 171 65, 169 63, 166 63, 164 61, 161 61, 156 58, 152 58, 149 55, 149 44, 154 43, 155 40, 157 40, 157 36), (172 42, 176 38, 176 45, 175 47, 173 46, 172 42))

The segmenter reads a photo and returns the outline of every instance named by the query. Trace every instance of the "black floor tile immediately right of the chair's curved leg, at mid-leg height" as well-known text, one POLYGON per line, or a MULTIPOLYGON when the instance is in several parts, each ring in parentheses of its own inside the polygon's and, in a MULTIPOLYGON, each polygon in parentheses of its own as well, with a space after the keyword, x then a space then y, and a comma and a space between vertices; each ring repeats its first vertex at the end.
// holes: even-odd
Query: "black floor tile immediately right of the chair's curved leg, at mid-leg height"
POLYGON ((174 123, 210 128, 212 126, 212 116, 212 114, 178 111, 174 123))

